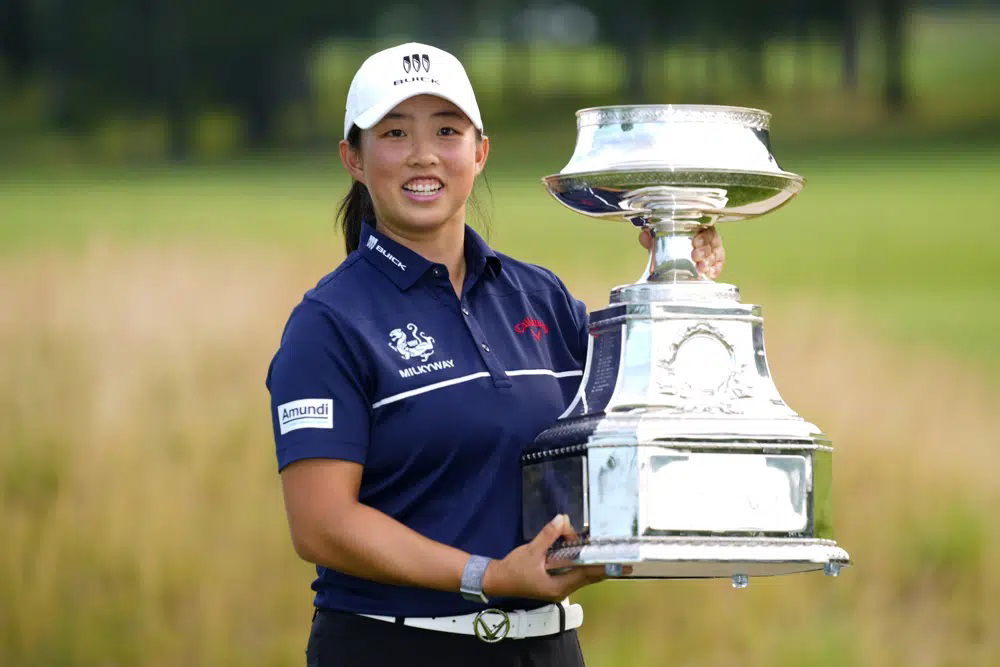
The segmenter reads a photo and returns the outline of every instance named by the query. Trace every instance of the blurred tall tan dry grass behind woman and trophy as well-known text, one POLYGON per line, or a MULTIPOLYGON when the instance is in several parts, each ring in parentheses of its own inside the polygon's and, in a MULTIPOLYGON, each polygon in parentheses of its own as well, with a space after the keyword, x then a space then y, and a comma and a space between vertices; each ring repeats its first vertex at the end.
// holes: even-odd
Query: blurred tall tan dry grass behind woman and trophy
MULTIPOLYGON (((97 242, 0 265, 0 664, 301 664, 312 572, 263 378, 328 264, 97 242)), ((849 304, 760 300, 779 389, 837 446, 856 565, 601 584, 578 596, 589 664, 997 664, 995 384, 849 304)))

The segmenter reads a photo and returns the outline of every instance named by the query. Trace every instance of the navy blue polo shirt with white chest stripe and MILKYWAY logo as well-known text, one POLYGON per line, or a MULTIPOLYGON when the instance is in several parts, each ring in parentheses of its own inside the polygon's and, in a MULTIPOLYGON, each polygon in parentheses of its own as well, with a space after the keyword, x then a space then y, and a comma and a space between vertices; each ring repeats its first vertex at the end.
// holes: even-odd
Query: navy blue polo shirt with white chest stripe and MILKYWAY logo
MULTIPOLYGON (((362 225, 358 249, 292 311, 267 387, 279 470, 307 458, 360 463, 362 503, 502 558, 523 542, 521 450, 576 392, 587 314, 551 271, 493 251, 469 227, 465 261, 459 298, 444 265, 362 225)), ((483 608, 457 592, 316 570, 317 607, 483 608)))

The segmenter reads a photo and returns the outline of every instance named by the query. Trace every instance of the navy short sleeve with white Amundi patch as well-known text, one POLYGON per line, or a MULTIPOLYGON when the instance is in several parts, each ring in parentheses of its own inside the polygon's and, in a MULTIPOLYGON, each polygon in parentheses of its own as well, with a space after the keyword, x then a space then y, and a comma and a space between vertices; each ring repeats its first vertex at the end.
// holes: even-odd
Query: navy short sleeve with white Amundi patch
POLYGON ((364 463, 372 410, 360 354, 326 306, 306 299, 292 311, 265 381, 279 471, 307 458, 364 463))

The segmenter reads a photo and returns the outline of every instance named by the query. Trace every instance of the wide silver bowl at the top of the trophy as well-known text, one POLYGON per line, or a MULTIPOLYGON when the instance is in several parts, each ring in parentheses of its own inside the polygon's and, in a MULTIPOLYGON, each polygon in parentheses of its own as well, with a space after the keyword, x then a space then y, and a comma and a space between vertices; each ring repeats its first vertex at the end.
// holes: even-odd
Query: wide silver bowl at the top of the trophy
POLYGON ((803 185, 775 161, 769 119, 704 105, 582 109, 573 156, 543 181, 574 211, 639 226, 663 214, 695 226, 762 215, 803 185))

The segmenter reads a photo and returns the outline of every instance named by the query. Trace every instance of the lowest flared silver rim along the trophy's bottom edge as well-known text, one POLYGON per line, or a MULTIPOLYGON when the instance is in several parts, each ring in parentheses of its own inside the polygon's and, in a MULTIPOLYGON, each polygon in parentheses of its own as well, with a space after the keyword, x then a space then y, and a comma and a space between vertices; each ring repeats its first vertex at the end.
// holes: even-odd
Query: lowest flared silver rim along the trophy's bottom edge
POLYGON ((604 565, 621 579, 768 577, 823 570, 836 576, 850 565, 833 540, 756 537, 642 537, 592 539, 556 547, 550 562, 604 565), (625 574, 622 568, 631 567, 625 574))

